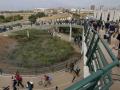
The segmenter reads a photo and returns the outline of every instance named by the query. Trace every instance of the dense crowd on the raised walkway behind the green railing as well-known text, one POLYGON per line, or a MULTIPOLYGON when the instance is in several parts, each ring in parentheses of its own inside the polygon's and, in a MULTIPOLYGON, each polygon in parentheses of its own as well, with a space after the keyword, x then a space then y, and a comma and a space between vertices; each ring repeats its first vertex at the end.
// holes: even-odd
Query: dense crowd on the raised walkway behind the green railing
POLYGON ((91 20, 89 22, 90 27, 92 27, 98 33, 100 30, 104 30, 103 39, 105 39, 109 45, 114 38, 115 44, 112 49, 118 50, 118 59, 120 59, 120 21, 103 21, 103 20, 91 20))

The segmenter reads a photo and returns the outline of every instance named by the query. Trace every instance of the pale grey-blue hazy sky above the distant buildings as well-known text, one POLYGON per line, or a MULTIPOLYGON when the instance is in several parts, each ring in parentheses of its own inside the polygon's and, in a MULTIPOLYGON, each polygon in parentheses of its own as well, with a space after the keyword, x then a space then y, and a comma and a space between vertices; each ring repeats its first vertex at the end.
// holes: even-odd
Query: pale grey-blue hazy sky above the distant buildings
POLYGON ((120 6, 120 0, 0 0, 0 10, 28 10, 34 8, 120 6))

